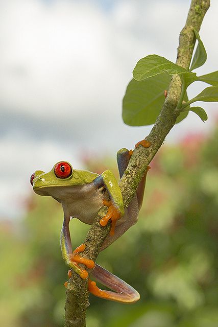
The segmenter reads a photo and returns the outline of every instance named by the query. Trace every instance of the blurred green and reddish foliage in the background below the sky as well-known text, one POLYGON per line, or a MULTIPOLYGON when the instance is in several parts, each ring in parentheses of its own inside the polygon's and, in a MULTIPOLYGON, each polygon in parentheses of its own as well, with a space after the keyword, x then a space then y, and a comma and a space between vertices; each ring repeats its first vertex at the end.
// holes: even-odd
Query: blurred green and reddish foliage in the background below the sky
MULTIPOLYGON (((208 139, 187 136, 177 147, 160 149, 151 163, 138 222, 97 261, 137 289, 141 299, 127 306, 90 295, 88 327, 217 325, 217 152, 218 129, 208 139)), ((117 173, 108 157, 86 165, 117 173)), ((61 327, 68 270, 59 244, 62 208, 32 193, 26 208, 25 218, 0 222, 0 322, 61 327)), ((73 248, 88 228, 71 221, 73 248)))

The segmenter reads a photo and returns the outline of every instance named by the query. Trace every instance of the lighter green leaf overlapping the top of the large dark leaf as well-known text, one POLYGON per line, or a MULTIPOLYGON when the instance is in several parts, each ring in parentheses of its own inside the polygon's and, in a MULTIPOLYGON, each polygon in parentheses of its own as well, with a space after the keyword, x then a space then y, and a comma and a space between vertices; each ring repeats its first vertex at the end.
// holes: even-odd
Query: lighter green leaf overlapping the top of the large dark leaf
POLYGON ((169 75, 187 74, 189 71, 164 57, 149 55, 137 62, 133 70, 133 78, 136 81, 142 81, 162 73, 168 73, 169 75))

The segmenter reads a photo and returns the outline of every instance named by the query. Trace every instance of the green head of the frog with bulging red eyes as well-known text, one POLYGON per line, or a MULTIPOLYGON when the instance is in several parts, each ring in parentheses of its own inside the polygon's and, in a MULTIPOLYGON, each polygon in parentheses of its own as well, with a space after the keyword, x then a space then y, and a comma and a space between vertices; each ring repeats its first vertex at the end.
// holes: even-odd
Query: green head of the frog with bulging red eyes
POLYGON ((66 161, 57 162, 49 173, 37 170, 30 177, 33 190, 39 195, 52 196, 59 186, 73 186, 78 184, 76 181, 78 182, 77 175, 66 161))

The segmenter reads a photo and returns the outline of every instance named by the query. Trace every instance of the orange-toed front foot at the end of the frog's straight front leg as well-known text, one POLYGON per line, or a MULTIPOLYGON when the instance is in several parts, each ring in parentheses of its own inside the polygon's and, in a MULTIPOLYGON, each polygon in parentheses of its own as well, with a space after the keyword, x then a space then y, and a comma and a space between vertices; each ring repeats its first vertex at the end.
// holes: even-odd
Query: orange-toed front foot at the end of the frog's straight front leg
MULTIPOLYGON (((81 244, 72 252, 71 254, 68 254, 67 256, 67 264, 70 266, 70 268, 74 269, 78 275, 80 275, 81 278, 86 279, 88 277, 88 272, 85 269, 82 269, 79 267, 79 263, 85 265, 87 268, 92 269, 94 268, 94 261, 84 258, 80 255, 80 252, 83 252, 85 250, 85 244, 81 244)), ((69 273, 69 272, 68 272, 69 273)))

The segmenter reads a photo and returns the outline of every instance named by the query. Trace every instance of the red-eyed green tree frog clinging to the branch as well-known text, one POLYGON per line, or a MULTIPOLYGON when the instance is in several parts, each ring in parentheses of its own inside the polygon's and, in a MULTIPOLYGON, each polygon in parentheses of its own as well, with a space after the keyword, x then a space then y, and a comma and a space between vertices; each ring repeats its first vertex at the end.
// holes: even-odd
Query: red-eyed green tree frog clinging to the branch
MULTIPOLYGON (((142 140, 136 144, 136 147, 140 145, 146 148, 150 146, 150 142, 142 140)), ((120 178, 125 173, 132 153, 132 150, 126 148, 117 152, 120 178)), ((127 208, 124 207, 118 182, 110 170, 99 175, 86 170, 74 169, 68 161, 59 161, 50 172, 36 170, 31 175, 30 182, 36 194, 51 196, 62 205, 64 219, 60 244, 63 260, 71 268, 68 276, 71 276, 73 269, 81 278, 86 279, 88 272, 80 267, 80 264, 83 264, 86 268, 92 269, 91 275, 97 281, 112 290, 100 289, 89 278, 88 290, 95 296, 123 303, 133 303, 140 298, 139 293, 132 286, 92 260, 84 258, 82 252, 85 244, 81 244, 72 251, 69 222, 77 218, 81 222, 91 225, 99 209, 103 205, 107 206, 107 214, 100 220, 100 224, 106 226, 110 220, 111 229, 101 247, 101 251, 103 251, 137 222, 149 168, 148 166, 127 208)), ((65 286, 67 287, 67 282, 65 286)))

